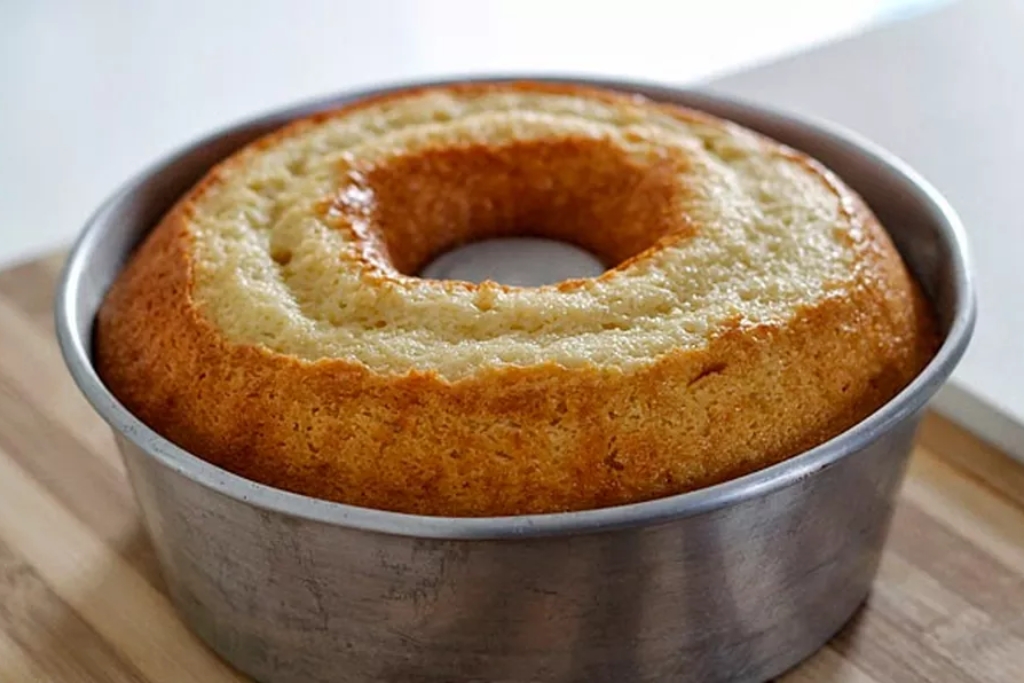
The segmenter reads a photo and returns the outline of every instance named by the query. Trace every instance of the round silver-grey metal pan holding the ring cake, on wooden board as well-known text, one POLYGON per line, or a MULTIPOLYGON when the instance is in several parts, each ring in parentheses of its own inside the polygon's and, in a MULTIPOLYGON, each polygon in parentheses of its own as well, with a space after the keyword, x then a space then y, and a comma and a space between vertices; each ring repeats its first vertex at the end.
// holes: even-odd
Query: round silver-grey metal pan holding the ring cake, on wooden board
POLYGON ((898 160, 829 126, 707 93, 547 80, 693 106, 824 162, 889 229, 939 313, 942 346, 830 441, 672 498, 458 519, 284 493, 207 464, 127 412, 93 368, 93 319, 133 247, 213 163, 286 121, 401 86, 197 142, 90 219, 62 274, 56 328, 75 381, 114 429, 181 616, 260 681, 763 681, 820 647, 867 595, 922 411, 974 325, 956 216, 898 160))

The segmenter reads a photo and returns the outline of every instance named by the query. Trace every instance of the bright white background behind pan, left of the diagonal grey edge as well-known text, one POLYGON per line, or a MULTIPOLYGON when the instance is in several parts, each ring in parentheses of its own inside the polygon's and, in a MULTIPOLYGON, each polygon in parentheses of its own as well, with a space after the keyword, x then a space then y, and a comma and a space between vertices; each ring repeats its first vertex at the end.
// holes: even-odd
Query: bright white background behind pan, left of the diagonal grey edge
POLYGON ((159 156, 354 85, 495 71, 688 83, 921 0, 0 0, 0 265, 159 156))

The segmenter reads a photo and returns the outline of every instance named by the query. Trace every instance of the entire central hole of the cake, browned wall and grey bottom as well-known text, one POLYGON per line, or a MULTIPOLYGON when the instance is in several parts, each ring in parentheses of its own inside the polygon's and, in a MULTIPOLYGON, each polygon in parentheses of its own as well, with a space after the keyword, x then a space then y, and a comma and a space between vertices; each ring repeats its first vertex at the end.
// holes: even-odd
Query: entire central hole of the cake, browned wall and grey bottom
POLYGON ((402 274, 537 287, 599 275, 677 232, 681 168, 604 139, 431 147, 349 173, 332 208, 402 274))

